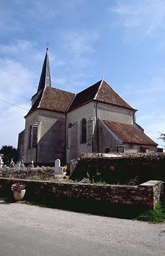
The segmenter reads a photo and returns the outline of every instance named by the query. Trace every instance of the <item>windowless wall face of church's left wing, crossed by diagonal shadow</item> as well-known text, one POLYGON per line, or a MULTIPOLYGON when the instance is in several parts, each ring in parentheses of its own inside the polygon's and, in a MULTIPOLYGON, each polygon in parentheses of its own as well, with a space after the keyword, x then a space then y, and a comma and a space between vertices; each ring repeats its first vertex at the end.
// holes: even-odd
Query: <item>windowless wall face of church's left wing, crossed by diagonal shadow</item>
POLYGON ((38 134, 37 162, 54 163, 60 159, 65 162, 65 114, 39 110, 41 123, 38 134))

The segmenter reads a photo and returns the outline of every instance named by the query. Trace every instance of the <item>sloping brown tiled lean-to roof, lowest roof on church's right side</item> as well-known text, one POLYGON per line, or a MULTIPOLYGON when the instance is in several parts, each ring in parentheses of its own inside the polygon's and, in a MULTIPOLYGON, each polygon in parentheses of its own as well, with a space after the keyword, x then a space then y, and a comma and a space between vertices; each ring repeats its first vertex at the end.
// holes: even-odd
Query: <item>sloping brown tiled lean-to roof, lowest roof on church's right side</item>
POLYGON ((122 140, 122 142, 154 146, 158 145, 144 134, 135 124, 109 120, 101 121, 116 135, 118 139, 122 140))

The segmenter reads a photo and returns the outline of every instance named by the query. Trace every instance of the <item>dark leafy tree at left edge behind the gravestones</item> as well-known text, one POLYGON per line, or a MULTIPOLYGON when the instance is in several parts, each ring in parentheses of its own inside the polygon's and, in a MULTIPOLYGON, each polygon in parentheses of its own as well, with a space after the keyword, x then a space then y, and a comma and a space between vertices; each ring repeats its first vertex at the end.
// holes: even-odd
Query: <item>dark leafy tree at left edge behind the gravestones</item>
POLYGON ((0 154, 4 154, 3 162, 5 165, 9 166, 11 159, 13 159, 13 162, 16 163, 17 149, 13 146, 2 146, 0 154))

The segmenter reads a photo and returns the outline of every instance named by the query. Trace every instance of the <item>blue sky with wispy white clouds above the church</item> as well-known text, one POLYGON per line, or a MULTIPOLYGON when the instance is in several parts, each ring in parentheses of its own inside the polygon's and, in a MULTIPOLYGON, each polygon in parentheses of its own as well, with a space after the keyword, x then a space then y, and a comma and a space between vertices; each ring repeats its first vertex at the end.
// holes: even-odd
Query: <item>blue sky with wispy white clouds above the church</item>
POLYGON ((17 148, 47 42, 52 87, 78 93, 103 75, 165 145, 164 0, 0 0, 0 14, 0 148, 17 148))

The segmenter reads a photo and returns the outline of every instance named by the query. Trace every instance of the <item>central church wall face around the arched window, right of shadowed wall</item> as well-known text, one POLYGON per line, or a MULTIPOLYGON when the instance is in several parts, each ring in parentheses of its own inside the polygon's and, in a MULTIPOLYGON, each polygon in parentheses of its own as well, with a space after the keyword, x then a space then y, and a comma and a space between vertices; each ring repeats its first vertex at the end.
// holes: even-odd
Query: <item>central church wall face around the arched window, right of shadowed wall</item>
POLYGON ((94 103, 88 103, 67 113, 67 163, 82 152, 93 152, 93 144, 95 143, 93 141, 93 134, 96 126, 96 110, 94 105, 94 103), (85 143, 81 143, 81 121, 83 118, 86 119, 87 126, 87 141, 85 143))

